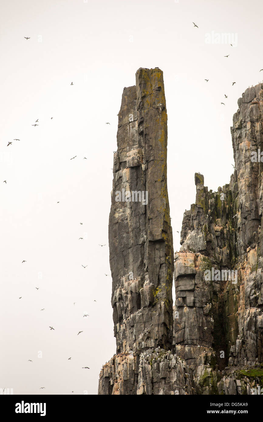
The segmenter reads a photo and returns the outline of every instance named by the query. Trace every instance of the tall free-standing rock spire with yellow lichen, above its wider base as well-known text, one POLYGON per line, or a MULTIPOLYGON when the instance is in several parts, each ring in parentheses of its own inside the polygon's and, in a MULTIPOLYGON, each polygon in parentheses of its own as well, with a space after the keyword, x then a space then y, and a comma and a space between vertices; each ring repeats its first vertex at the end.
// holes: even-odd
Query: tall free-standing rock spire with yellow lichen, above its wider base
POLYGON ((136 72, 119 111, 109 217, 117 353, 170 347, 173 237, 167 193, 163 72, 136 72))

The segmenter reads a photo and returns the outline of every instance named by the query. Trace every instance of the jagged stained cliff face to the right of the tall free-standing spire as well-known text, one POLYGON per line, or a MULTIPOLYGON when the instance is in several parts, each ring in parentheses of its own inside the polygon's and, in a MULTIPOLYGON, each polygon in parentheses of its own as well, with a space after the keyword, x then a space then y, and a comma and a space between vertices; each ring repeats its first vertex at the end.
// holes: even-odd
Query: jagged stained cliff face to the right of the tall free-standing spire
POLYGON ((184 252, 175 254, 172 350, 193 369, 203 394, 249 394, 254 380, 263 387, 263 165, 258 162, 263 85, 247 89, 238 105, 230 184, 208 191, 195 173, 195 204, 182 223, 184 252))

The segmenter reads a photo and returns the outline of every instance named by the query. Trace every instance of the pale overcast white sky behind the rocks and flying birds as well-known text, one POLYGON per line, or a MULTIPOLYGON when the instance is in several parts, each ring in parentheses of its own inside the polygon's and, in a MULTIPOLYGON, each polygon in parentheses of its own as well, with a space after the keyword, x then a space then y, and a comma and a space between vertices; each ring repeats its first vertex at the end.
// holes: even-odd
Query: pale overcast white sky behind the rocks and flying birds
POLYGON ((140 67, 163 70, 179 249, 195 171, 209 189, 230 181, 237 100, 263 78, 262 11, 261 0, 2 2, 0 388, 97 394, 116 350, 104 273, 122 90, 140 67), (207 43, 212 31, 237 45, 207 43))

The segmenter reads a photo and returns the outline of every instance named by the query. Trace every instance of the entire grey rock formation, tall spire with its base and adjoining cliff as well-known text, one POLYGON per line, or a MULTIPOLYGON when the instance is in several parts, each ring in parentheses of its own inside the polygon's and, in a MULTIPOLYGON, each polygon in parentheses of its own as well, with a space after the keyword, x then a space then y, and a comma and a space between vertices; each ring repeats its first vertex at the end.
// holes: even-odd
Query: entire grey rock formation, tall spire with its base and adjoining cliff
POLYGON ((263 387, 263 86, 247 89, 238 105, 230 184, 208 191, 195 173, 174 261, 163 73, 140 68, 136 86, 123 91, 109 217, 117 355, 100 372, 99 394, 263 387))

